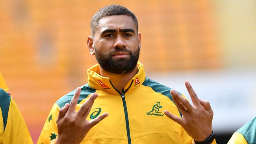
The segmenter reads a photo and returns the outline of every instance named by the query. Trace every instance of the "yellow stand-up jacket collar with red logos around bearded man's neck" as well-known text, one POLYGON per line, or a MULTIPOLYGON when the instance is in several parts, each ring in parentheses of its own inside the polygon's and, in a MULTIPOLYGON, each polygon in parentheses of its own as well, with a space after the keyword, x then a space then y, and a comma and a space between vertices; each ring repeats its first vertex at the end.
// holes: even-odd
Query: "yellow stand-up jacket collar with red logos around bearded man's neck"
MULTIPOLYGON (((129 89, 130 91, 132 89, 135 89, 145 81, 145 71, 143 68, 143 64, 138 62, 137 66, 138 66, 138 73, 132 79, 130 79, 130 81, 124 87, 124 90, 129 89)), ((100 76, 99 64, 89 68, 87 70, 87 74, 88 74, 88 84, 93 89, 104 90, 106 92, 107 91, 117 92, 113 87, 113 85, 111 84, 111 80, 108 77, 100 76)))

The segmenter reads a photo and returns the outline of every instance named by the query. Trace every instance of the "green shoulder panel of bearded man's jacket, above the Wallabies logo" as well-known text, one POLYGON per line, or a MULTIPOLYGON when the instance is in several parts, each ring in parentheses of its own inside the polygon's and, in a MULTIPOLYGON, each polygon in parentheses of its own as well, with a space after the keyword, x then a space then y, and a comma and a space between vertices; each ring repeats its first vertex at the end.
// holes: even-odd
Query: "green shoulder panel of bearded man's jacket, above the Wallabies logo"
MULTIPOLYGON (((170 94, 170 91, 172 90, 169 87, 166 87, 165 85, 162 85, 156 81, 153 81, 149 78, 145 78, 145 81, 142 83, 142 85, 146 86, 146 87, 151 87, 155 92, 159 92, 161 94, 163 94, 164 96, 167 96, 171 101, 173 101, 173 97, 170 94)), ((182 95, 180 92, 178 92, 180 95, 182 95)), ((175 102, 173 101, 173 103, 175 104, 175 102)), ((175 104, 176 105, 176 104, 175 104)), ((180 113, 180 117, 182 117, 182 113, 179 111, 180 113)))

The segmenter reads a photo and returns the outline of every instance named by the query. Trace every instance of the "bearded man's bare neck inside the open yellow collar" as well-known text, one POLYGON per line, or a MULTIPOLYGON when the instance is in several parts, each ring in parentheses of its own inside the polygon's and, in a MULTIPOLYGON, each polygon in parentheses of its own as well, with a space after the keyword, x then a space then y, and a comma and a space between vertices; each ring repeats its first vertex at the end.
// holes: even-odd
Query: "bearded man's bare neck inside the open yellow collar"
POLYGON ((108 77, 111 80, 111 83, 114 85, 114 87, 119 90, 119 92, 122 92, 122 89, 127 85, 127 83, 138 73, 138 66, 136 65, 135 68, 125 74, 113 74, 106 70, 104 70, 100 66, 100 76, 108 77))

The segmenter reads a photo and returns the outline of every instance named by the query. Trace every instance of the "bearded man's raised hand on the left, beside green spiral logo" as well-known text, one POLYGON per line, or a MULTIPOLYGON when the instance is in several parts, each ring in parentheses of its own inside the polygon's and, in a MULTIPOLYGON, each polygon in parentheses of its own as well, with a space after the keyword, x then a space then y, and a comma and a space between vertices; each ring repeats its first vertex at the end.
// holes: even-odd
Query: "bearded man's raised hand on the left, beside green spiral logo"
POLYGON ((70 103, 66 103, 59 110, 57 118, 59 136, 56 144, 79 144, 93 126, 108 116, 108 113, 104 113, 93 120, 86 120, 94 100, 98 97, 97 93, 91 94, 85 103, 82 104, 79 111, 76 112, 76 104, 80 92, 81 88, 78 87, 70 103))

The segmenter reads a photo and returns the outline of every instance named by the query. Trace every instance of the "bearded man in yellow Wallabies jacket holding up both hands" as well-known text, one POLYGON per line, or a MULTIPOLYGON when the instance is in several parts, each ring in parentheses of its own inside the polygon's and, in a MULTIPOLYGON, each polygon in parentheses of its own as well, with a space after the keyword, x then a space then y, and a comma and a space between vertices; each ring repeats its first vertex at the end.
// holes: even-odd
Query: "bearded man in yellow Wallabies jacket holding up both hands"
POLYGON ((138 62, 141 33, 131 11, 103 7, 91 20, 91 34, 87 45, 99 64, 87 70, 87 84, 54 104, 38 144, 215 143, 210 103, 198 99, 188 81, 193 106, 145 77, 138 62))

